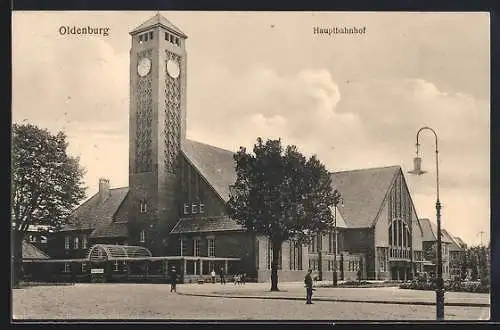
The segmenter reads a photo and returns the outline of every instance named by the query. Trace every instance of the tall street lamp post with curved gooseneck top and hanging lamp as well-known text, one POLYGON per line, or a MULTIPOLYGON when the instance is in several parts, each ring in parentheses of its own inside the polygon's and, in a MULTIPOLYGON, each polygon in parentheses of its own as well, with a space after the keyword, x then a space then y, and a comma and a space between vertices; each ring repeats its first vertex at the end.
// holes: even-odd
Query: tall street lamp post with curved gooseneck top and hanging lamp
POLYGON ((443 283, 443 255, 441 244, 441 202, 439 201, 439 156, 438 156, 438 141, 436 132, 427 126, 420 128, 417 132, 417 156, 413 159, 414 169, 408 171, 410 174, 422 175, 426 171, 422 171, 422 159, 418 156, 418 136, 423 130, 429 130, 434 134, 436 141, 436 222, 437 222, 437 283, 436 283, 436 319, 444 319, 444 283, 443 283))

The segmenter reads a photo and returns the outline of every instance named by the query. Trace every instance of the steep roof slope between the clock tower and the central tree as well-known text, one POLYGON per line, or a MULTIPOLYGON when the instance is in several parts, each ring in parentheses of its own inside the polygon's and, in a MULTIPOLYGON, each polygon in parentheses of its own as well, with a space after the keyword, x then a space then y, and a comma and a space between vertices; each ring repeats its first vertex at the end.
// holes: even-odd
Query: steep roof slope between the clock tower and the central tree
POLYGON ((192 140, 185 141, 182 151, 217 194, 228 201, 229 186, 236 181, 234 152, 192 140))

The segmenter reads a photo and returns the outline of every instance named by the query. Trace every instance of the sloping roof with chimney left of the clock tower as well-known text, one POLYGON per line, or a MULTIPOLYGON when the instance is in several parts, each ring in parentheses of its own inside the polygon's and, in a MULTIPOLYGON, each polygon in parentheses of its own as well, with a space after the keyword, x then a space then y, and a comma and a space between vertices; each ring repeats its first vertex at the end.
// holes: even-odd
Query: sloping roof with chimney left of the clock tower
POLYGON ((69 223, 62 230, 94 230, 108 226, 113 222, 113 216, 127 193, 127 187, 109 189, 109 195, 104 200, 101 199, 99 193, 96 193, 73 210, 69 223))

